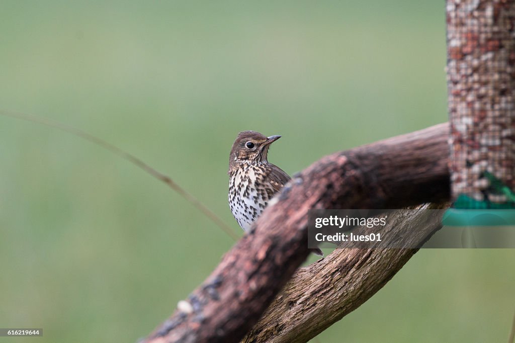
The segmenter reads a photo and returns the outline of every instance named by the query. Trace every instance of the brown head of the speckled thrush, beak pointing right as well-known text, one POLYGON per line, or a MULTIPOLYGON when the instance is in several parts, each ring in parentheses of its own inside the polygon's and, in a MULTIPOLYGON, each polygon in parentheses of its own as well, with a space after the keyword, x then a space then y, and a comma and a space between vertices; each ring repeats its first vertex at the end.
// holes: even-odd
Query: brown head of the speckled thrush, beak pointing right
POLYGON ((229 173, 240 163, 268 162, 268 148, 280 138, 279 135, 267 137, 256 131, 238 133, 229 155, 229 173))

